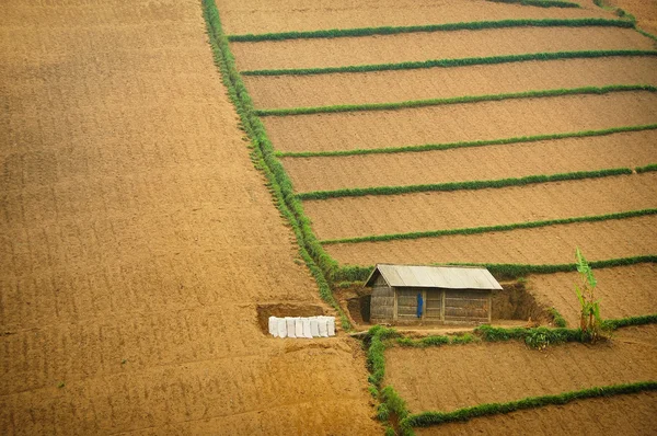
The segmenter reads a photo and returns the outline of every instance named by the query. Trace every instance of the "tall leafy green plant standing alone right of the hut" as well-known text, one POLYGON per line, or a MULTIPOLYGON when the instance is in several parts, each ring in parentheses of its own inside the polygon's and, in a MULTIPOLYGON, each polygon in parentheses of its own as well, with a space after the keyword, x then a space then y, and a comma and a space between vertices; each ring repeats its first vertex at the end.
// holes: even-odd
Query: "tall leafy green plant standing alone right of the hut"
POLYGON ((597 280, 592 268, 579 251, 579 248, 575 250, 575 257, 577 259, 577 272, 581 278, 580 285, 575 285, 575 292, 581 308, 579 329, 590 342, 595 343, 603 337, 600 300, 596 300, 597 280))

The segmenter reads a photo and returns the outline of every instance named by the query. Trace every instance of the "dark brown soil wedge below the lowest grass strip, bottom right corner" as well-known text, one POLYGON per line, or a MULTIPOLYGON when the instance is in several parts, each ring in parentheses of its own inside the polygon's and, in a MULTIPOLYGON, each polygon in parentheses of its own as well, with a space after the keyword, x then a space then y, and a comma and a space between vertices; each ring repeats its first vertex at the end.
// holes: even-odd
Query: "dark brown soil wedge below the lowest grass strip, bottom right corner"
POLYGON ((466 423, 415 428, 418 435, 649 435, 657 426, 657 393, 597 398, 466 423))

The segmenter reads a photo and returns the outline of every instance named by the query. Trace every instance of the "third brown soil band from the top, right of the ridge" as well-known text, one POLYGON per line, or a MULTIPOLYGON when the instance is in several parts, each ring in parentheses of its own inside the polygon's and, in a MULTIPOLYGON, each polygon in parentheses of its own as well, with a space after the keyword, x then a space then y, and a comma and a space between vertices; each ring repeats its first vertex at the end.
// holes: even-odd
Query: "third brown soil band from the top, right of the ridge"
POLYGON ((316 76, 245 76, 256 107, 308 107, 491 95, 531 89, 657 84, 657 57, 567 59, 316 76))

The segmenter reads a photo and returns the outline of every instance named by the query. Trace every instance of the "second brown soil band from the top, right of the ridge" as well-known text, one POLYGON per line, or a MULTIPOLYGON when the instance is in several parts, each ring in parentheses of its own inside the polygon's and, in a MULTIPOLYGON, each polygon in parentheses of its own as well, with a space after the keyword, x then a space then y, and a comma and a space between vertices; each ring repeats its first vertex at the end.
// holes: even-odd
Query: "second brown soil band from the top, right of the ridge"
POLYGON ((240 70, 653 48, 650 38, 620 27, 516 27, 231 44, 240 70))

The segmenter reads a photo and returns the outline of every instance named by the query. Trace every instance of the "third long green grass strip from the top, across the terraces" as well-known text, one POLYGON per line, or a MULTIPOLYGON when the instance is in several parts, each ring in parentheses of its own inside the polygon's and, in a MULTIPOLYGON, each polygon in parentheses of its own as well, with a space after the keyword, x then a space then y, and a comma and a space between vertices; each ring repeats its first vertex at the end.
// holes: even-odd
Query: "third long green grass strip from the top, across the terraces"
POLYGON ((496 102, 496 101, 500 101, 500 100, 515 100, 515 99, 542 99, 542 97, 552 97, 552 96, 562 96, 562 95, 579 95, 579 94, 602 95, 602 94, 609 94, 611 92, 629 92, 629 91, 656 92, 657 88, 653 87, 650 84, 612 84, 609 87, 600 87, 600 88, 584 87, 584 88, 557 89, 557 90, 525 91, 525 92, 512 92, 512 93, 504 93, 504 94, 457 96, 457 97, 450 97, 450 99, 413 100, 413 101, 395 102, 395 103, 344 104, 344 105, 335 105, 335 106, 258 110, 258 111, 255 111, 255 115, 258 115, 258 116, 289 116, 289 115, 335 114, 335 113, 343 113, 343 112, 391 111, 391 110, 403 110, 403 108, 426 107, 426 106, 442 106, 442 105, 448 105, 448 104, 496 102))

